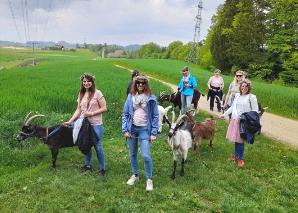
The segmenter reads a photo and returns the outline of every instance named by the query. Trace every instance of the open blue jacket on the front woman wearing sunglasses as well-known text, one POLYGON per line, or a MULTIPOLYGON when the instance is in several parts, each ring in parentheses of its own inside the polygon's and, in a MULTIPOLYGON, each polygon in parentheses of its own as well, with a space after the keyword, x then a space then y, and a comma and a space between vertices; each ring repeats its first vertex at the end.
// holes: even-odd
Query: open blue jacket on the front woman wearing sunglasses
MULTIPOLYGON (((126 102, 124 104, 123 113, 122 113, 122 133, 125 132, 131 133, 131 127, 133 124, 133 101, 132 95, 127 96, 126 102)), ((149 135, 157 135, 158 130, 158 107, 157 100, 154 95, 150 95, 147 100, 146 106, 147 113, 147 129, 149 135)))

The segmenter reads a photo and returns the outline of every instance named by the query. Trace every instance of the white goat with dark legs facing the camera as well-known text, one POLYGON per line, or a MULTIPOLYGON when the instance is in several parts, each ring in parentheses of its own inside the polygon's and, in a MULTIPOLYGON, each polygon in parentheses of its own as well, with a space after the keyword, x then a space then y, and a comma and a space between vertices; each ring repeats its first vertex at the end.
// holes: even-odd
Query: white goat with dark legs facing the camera
POLYGON ((188 149, 192 145, 192 137, 188 130, 181 129, 182 124, 180 121, 186 117, 186 115, 180 115, 175 122, 175 112, 172 111, 172 124, 168 134, 168 143, 173 151, 173 173, 171 178, 176 178, 176 167, 179 156, 182 156, 180 175, 184 175, 184 163, 187 158, 188 149))

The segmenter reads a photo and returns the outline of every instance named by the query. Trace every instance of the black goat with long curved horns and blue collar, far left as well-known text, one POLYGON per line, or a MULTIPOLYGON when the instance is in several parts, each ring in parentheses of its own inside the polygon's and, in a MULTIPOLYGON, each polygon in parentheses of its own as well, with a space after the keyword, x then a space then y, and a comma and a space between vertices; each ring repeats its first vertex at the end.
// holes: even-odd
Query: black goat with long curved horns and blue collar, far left
POLYGON ((73 143, 72 128, 67 126, 53 126, 53 127, 40 127, 32 125, 31 122, 37 117, 44 115, 30 116, 29 113, 24 121, 21 132, 17 135, 16 140, 23 141, 28 137, 36 137, 48 145, 52 153, 52 167, 56 167, 56 160, 60 148, 76 146, 73 143))

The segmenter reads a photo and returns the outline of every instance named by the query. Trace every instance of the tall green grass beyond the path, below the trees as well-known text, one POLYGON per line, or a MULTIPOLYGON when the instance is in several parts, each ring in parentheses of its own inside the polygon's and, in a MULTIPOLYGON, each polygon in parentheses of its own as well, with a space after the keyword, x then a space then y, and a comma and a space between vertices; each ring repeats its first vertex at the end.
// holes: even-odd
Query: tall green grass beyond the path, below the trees
MULTIPOLYGON (((186 65, 182 61, 156 60, 156 59, 121 59, 113 60, 112 63, 122 64, 130 68, 136 68, 144 73, 160 79, 178 84, 181 78, 181 70, 186 65)), ((213 73, 197 66, 190 65, 190 72, 196 76, 199 89, 207 93, 207 82, 213 73)), ((225 93, 227 93, 231 76, 223 76, 225 93)), ((269 106, 268 111, 288 118, 298 119, 298 88, 272 85, 264 82, 253 81, 253 93, 256 94, 262 106, 269 106)))

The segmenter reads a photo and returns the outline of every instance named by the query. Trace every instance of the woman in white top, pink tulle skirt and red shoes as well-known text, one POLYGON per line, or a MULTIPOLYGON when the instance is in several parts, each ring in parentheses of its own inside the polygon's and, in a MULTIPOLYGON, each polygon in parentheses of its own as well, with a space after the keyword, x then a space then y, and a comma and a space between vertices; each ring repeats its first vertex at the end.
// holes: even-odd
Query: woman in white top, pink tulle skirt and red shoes
POLYGON ((230 160, 236 161, 239 167, 243 167, 244 141, 240 137, 240 115, 245 112, 258 112, 257 97, 251 94, 251 83, 248 80, 240 82, 240 93, 235 95, 232 106, 220 117, 232 114, 226 138, 229 142, 235 143, 235 153, 230 160))

